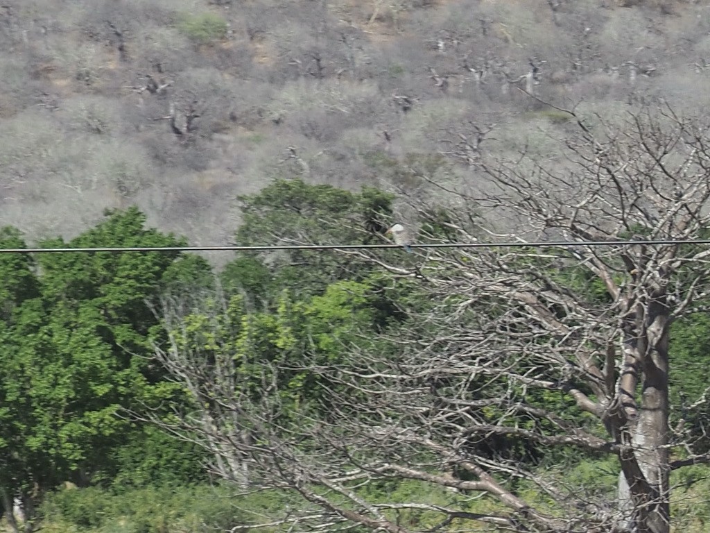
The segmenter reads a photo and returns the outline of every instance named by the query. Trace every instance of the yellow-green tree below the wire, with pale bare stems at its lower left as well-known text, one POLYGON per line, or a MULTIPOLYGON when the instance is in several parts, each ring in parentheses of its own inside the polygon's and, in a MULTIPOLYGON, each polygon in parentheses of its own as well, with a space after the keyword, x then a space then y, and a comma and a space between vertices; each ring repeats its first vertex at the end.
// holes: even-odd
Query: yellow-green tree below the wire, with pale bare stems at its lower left
MULTIPOLYGON (((245 413, 232 402, 277 402, 278 414, 268 423, 284 427, 302 424, 305 413, 313 421, 327 418, 327 397, 338 386, 320 369, 344 363, 354 345, 378 343, 371 332, 396 318, 394 298, 396 291, 383 288, 373 276, 337 281, 322 295, 300 300, 283 290, 273 308, 261 311, 250 309, 239 294, 229 301, 221 294, 165 301, 168 343, 156 343, 156 357, 173 377, 185 377, 180 382, 191 402, 178 406, 182 416, 158 414, 154 420, 200 442, 212 454, 214 470, 248 485, 249 467, 234 455, 234 441, 258 439, 261 429, 258 424, 244 427, 245 413), (235 432, 237 427, 242 429, 235 432)), ((381 353, 386 345, 381 343, 381 353)), ((249 409, 256 414, 259 408, 249 409)))

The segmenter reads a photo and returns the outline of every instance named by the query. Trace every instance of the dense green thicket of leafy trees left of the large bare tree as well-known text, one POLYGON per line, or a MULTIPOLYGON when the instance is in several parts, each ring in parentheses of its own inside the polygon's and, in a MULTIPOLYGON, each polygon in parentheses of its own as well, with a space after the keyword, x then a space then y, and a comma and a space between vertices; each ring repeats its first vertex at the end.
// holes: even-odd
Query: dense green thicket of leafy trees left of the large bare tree
MULTIPOLYGON (((371 242, 383 239, 390 202, 391 195, 372 189, 353 194, 279 181, 242 199, 245 223, 236 238, 263 244, 288 227, 288 234, 280 232, 282 242, 315 235, 321 235, 320 242, 371 242), (329 236, 320 231, 326 226, 332 229, 329 236)), ((17 230, 7 227, 2 235, 1 247, 26 247, 17 230)), ((145 215, 130 208, 109 213, 69 242, 48 239, 41 246, 181 244, 182 239, 146 228, 145 215)), ((190 340, 200 348, 206 349, 206 342, 241 347, 243 384, 253 394, 263 387, 263 366, 274 358, 292 357, 296 367, 302 352, 315 346, 325 350, 326 359, 336 355, 332 306, 356 304, 373 330, 396 315, 383 282, 364 282, 372 277, 372 266, 334 253, 245 254, 219 274, 204 259, 177 252, 3 254, 0 262, 3 508, 18 498, 28 520, 60 486, 116 494, 187 487, 219 468, 214 456, 137 421, 148 414, 170 421, 173 411, 187 407, 184 384, 166 379, 152 361, 153 349, 165 343, 156 328, 164 309, 192 310, 190 340), (230 321, 209 333, 209 316, 200 318, 197 311, 214 313, 222 306, 229 306, 230 321)), ((340 328, 346 332, 351 317, 343 313, 340 328)), ((295 405, 317 399, 317 384, 307 373, 294 371, 287 381, 295 405)), ((68 510, 72 505, 88 505, 85 512, 102 513, 92 507, 92 492, 82 494, 85 504, 83 496, 67 495, 48 509, 71 517, 80 514, 68 510)), ((85 525, 99 523, 89 519, 85 525)))

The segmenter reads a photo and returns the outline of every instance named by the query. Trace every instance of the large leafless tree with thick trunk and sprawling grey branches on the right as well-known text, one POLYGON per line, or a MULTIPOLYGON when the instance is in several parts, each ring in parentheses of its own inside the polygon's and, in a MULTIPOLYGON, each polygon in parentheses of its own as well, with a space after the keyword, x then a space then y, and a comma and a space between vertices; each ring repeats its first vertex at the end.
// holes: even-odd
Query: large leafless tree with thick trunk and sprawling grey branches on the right
POLYGON ((563 158, 481 154, 485 195, 432 183, 452 200, 446 215, 415 205, 420 239, 548 246, 415 248, 414 259, 344 252, 380 264, 426 302, 378 338, 388 355, 364 333, 344 345, 345 362, 304 354, 297 365, 264 363, 255 395, 235 385, 230 350, 211 352, 209 365, 185 350, 175 340, 180 313, 168 308, 173 341, 158 359, 197 406, 173 430, 219 461, 241 461, 251 485, 320 507, 284 512, 280 523, 669 532, 671 470, 710 461, 682 424, 669 426, 670 326, 698 311, 710 287, 710 252, 673 242, 710 225, 707 126, 667 107, 621 126, 596 117, 593 128, 568 113, 577 131, 563 158), (320 404, 285 421, 278 376, 295 367, 329 385, 320 404), (616 458, 618 488, 586 490, 564 465, 540 468, 555 450, 616 458), (380 480, 456 492, 446 505, 388 502, 365 490, 380 480), (496 502, 486 512, 471 507, 483 495, 496 502), (425 512, 426 524, 410 524, 411 512, 425 512))

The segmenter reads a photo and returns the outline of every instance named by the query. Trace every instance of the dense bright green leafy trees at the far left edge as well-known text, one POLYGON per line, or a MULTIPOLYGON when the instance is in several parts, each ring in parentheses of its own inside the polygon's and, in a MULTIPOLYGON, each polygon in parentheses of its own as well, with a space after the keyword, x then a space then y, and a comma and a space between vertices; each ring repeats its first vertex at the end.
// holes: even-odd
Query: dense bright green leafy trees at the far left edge
MULTIPOLYGON (((43 244, 182 243, 146 229, 144 223, 144 215, 131 208, 111 213, 68 243, 53 239, 43 244)), ((5 230, 3 235, 4 245, 21 247, 16 232, 5 230)), ((143 431, 117 414, 174 395, 170 387, 156 385, 161 376, 148 366, 147 334, 157 318, 146 300, 176 280, 195 279, 196 272, 204 277, 204 262, 176 262, 177 257, 177 253, 139 252, 43 254, 37 258, 38 279, 32 274, 31 257, 0 257, 0 269, 6 271, 0 288, 8 295, 5 301, 13 303, 11 308, 5 306, 11 311, 9 319, 0 323, 0 461, 4 464, 0 483, 11 492, 45 490, 62 480, 78 482, 91 476, 105 481, 121 468, 125 477, 127 463, 121 463, 125 452, 117 450, 127 446, 126 440, 145 439, 143 468, 163 460, 157 448, 158 443, 166 444, 165 436, 143 431)), ((174 461, 182 463, 176 472, 195 474, 195 456, 188 458, 189 451, 180 446, 167 449, 174 461)), ((132 480, 147 481, 140 473, 132 480)))

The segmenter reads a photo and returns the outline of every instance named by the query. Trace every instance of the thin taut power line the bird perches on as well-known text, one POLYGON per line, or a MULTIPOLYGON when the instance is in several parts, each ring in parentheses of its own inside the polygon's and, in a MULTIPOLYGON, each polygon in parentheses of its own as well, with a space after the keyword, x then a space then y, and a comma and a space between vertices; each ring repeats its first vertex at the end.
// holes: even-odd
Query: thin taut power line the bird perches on
MULTIPOLYGON (((442 242, 412 244, 412 248, 579 248, 601 246, 710 244, 710 239, 648 239, 613 241, 545 241, 545 242, 442 242)), ((86 248, 0 248, 0 254, 59 254, 59 253, 124 253, 124 252, 268 252, 275 250, 351 250, 401 248, 400 244, 273 244, 268 246, 145 246, 145 247, 86 247, 86 248)))

